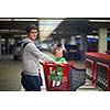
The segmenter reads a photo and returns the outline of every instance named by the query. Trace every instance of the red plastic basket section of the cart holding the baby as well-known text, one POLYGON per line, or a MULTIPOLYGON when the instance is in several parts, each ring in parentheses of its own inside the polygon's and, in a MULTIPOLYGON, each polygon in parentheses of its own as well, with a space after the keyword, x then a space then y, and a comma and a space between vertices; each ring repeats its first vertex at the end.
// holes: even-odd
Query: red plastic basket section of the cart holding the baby
POLYGON ((57 65, 55 63, 41 63, 43 65, 44 68, 44 76, 45 76, 45 84, 46 84, 46 90, 47 91, 69 91, 70 87, 69 87, 69 65, 68 64, 63 64, 63 66, 61 66, 63 68, 63 78, 62 78, 62 82, 61 86, 55 86, 52 87, 52 81, 51 81, 51 73, 53 70, 55 70, 55 79, 57 79, 57 65))

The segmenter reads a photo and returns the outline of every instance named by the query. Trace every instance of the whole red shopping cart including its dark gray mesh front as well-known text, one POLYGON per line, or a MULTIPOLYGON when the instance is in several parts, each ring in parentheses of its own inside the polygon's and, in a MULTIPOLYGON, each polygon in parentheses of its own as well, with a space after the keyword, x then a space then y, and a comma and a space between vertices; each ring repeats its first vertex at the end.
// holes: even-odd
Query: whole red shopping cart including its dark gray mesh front
POLYGON ((44 68, 45 84, 47 91, 75 91, 78 87, 85 84, 86 81, 86 72, 85 69, 76 69, 74 63, 63 64, 62 82, 59 86, 52 86, 51 74, 55 70, 55 80, 57 81, 57 67, 55 63, 44 62, 41 63, 44 68), (77 73, 76 73, 77 72, 77 73), (79 73, 78 73, 79 72, 79 73))

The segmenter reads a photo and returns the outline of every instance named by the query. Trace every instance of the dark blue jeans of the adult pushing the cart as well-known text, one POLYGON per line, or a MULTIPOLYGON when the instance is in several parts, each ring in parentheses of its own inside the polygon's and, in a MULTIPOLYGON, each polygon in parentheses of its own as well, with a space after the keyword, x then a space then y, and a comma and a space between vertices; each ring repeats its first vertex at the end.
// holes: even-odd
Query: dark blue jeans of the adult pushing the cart
POLYGON ((41 91, 41 77, 40 76, 30 76, 21 73, 21 84, 25 91, 41 91))

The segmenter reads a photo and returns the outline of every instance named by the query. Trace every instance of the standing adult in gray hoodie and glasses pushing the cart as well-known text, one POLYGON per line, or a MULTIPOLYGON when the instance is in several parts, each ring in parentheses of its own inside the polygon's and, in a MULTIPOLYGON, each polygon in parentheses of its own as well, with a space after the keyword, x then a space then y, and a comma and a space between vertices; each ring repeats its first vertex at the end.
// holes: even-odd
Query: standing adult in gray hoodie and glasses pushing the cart
POLYGON ((26 28, 28 36, 22 41, 21 84, 25 91, 41 91, 40 59, 55 62, 35 46, 34 41, 37 38, 37 33, 36 25, 30 24, 26 28))

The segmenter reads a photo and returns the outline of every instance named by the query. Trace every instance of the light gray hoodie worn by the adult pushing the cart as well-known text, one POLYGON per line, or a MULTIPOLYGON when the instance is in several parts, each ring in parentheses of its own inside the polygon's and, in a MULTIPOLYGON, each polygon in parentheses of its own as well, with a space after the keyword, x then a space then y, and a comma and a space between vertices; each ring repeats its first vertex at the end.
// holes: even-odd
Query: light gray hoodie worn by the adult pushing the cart
POLYGON ((22 67, 25 74, 38 76, 40 58, 46 62, 55 62, 52 57, 42 53, 30 38, 24 38, 22 46, 24 43, 29 43, 22 48, 22 67))

